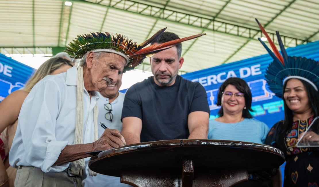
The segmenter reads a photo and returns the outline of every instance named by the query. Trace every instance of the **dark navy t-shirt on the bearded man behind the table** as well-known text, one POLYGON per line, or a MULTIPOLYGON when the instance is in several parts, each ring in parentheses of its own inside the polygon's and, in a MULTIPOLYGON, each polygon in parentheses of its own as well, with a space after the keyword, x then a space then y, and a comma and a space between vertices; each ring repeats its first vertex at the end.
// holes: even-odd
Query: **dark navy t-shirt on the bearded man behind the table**
POLYGON ((141 142, 187 139, 188 114, 194 111, 210 112, 206 91, 200 83, 178 75, 174 85, 158 86, 149 77, 128 89, 122 118, 133 116, 142 120, 141 142))

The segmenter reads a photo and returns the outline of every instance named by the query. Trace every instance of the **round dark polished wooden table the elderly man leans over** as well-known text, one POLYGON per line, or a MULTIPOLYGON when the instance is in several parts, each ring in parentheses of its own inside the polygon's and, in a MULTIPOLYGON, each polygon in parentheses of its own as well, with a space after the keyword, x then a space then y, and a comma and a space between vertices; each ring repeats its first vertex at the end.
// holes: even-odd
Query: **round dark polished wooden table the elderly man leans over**
POLYGON ((278 168, 283 153, 262 144, 179 139, 132 144, 93 156, 89 168, 132 186, 232 186, 247 173, 278 168))

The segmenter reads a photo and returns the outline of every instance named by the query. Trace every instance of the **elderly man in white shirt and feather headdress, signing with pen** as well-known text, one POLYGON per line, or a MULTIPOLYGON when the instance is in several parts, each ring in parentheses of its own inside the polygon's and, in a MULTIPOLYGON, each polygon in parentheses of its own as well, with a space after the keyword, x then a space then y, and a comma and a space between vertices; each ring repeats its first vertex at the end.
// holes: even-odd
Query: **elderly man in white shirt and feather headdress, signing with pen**
POLYGON ((66 52, 81 59, 79 67, 45 77, 22 105, 9 156, 10 165, 18 168, 15 186, 81 186, 86 152, 125 145, 118 130, 107 129, 98 139, 96 91, 167 47, 144 48, 152 40, 137 45, 120 34, 91 33, 69 44, 66 52))

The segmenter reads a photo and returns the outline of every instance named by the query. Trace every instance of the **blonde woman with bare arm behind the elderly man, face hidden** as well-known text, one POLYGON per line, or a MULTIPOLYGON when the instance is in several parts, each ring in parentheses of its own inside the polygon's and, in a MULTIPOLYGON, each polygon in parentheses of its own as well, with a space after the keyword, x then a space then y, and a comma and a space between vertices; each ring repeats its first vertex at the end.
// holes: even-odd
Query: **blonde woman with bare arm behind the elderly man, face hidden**
POLYGON ((13 186, 16 169, 9 166, 8 154, 17 130, 18 116, 23 101, 33 86, 47 75, 55 75, 71 68, 73 63, 61 57, 50 58, 28 80, 22 90, 9 94, 0 102, 0 186, 13 186))

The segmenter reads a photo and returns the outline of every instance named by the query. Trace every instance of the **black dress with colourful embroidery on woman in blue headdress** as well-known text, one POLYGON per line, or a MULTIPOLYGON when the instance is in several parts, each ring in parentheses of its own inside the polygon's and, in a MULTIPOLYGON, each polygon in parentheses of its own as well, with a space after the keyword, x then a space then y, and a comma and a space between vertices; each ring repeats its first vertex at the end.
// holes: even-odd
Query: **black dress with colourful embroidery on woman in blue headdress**
POLYGON ((265 144, 279 148, 286 157, 285 187, 318 187, 319 185, 319 151, 318 148, 298 148, 297 139, 307 130, 314 117, 305 121, 293 122, 286 137, 279 137, 283 121, 276 123, 269 131, 265 144), (279 141, 285 141, 281 147, 279 141))

